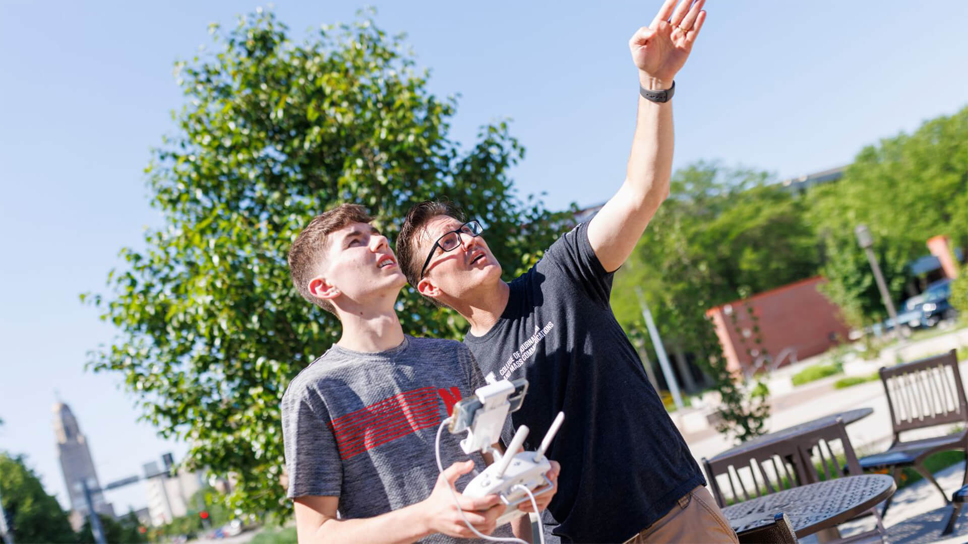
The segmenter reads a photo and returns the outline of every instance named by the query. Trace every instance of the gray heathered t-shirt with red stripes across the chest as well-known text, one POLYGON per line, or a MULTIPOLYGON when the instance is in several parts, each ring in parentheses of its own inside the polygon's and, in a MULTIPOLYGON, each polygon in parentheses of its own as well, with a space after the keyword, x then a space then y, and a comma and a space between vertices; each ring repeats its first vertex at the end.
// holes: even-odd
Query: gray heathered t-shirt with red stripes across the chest
MULTIPOLYGON (((283 397, 288 497, 339 497, 341 518, 371 518, 427 499, 437 482, 437 430, 484 379, 466 346, 406 336, 397 348, 361 353, 333 346, 292 380, 283 397)), ((468 456, 464 434, 440 437, 443 468, 468 456)), ((485 468, 457 480, 458 491, 485 468)), ((511 535, 510 526, 495 536, 511 535)), ((468 542, 433 534, 422 542, 468 542)))

